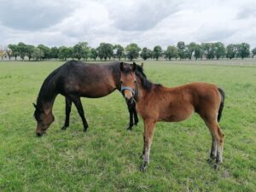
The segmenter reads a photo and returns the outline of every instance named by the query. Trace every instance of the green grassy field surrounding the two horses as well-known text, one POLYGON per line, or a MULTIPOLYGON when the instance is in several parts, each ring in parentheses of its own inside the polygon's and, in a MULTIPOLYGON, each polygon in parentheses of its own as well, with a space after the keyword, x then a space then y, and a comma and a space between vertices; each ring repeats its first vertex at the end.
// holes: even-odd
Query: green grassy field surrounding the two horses
MULTIPOLYGON (((82 100, 89 130, 76 109, 61 131, 64 98, 55 122, 36 137, 32 117, 45 77, 63 62, 0 62, 0 191, 256 191, 256 66, 242 61, 144 62, 148 79, 166 86, 192 81, 226 92, 224 164, 207 163, 211 137, 197 114, 182 123, 158 123, 147 172, 139 172, 143 122, 126 131, 128 111, 119 92, 82 100)), ((84 77, 86 78, 86 77, 84 77)))

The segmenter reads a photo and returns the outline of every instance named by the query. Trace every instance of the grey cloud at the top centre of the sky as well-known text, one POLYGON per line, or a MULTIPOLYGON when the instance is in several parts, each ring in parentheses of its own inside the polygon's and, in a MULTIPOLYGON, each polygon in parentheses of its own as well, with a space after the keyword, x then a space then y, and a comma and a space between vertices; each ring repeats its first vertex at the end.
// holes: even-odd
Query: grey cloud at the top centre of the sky
MULTIPOLYGON (((176 13, 180 2, 175 1, 142 1, 131 7, 113 10, 110 7, 110 18, 113 25, 123 31, 145 31, 156 26, 160 20, 176 13)), ((114 9, 117 9, 116 7, 114 9)))

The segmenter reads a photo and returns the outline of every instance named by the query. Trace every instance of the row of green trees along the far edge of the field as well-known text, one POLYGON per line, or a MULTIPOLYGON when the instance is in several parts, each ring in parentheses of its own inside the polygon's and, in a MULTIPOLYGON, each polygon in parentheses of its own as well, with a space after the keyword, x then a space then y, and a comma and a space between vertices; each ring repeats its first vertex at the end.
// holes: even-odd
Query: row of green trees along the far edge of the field
POLYGON ((130 61, 138 57, 143 60, 165 58, 166 60, 179 59, 179 60, 198 60, 198 59, 233 59, 233 58, 246 58, 256 55, 256 48, 250 51, 250 45, 247 43, 241 44, 228 44, 225 46, 221 42, 217 43, 190 43, 185 44, 180 41, 177 45, 170 45, 167 49, 162 49, 160 45, 154 46, 154 49, 144 47, 141 49, 137 44, 128 44, 125 48, 120 44, 107 44, 102 43, 97 48, 91 48, 87 42, 79 42, 73 47, 60 46, 51 47, 44 44, 34 46, 32 44, 9 44, 7 49, 0 48, 0 56, 3 58, 17 58, 22 61, 25 59, 29 61, 44 61, 49 59, 67 61, 68 58, 83 59, 87 61, 89 58, 96 61, 99 58, 101 61, 111 59, 128 59, 130 61))

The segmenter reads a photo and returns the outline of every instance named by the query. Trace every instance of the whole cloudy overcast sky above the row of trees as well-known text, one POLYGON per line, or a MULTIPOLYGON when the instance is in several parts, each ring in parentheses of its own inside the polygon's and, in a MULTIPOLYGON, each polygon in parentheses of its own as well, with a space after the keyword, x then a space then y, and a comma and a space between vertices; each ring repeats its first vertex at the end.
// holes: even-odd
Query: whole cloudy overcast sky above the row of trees
POLYGON ((256 47, 256 0, 0 0, 0 44, 256 47))

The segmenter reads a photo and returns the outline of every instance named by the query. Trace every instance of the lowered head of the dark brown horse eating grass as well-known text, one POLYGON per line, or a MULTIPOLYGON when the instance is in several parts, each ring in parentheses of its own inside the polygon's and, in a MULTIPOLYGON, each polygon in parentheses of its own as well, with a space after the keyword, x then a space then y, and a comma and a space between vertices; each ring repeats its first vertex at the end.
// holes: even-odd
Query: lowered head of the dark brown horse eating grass
POLYGON ((36 104, 33 104, 36 108, 34 112, 34 117, 38 122, 37 125, 37 135, 38 137, 43 136, 44 131, 46 131, 49 127, 49 125, 55 120, 55 117, 51 113, 51 111, 47 112, 44 111, 43 108, 38 108, 36 104))

